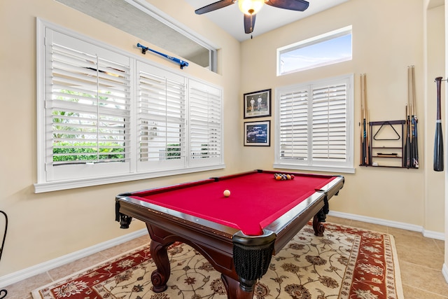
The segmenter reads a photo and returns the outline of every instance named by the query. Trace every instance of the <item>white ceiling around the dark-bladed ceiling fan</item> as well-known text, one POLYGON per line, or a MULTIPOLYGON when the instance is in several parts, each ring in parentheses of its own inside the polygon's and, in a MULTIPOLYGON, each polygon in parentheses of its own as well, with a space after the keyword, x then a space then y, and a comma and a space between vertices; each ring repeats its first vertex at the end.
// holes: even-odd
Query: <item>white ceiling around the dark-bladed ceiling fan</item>
MULTIPOLYGON (((218 0, 185 0, 193 9, 202 8, 212 4, 218 0)), ((294 0, 290 0, 294 1, 294 0)), ((269 5, 264 5, 257 13, 255 20, 255 27, 252 34, 244 33, 243 13, 239 11, 238 4, 232 4, 225 8, 205 13, 204 15, 197 15, 197 18, 209 18, 219 27, 224 29, 230 35, 234 36, 239 41, 245 41, 253 37, 269 32, 273 29, 282 27, 291 22, 295 22, 302 18, 307 18, 310 15, 325 11, 339 4, 349 0, 307 0, 309 7, 306 11, 288 11, 286 9, 275 8, 269 5)))

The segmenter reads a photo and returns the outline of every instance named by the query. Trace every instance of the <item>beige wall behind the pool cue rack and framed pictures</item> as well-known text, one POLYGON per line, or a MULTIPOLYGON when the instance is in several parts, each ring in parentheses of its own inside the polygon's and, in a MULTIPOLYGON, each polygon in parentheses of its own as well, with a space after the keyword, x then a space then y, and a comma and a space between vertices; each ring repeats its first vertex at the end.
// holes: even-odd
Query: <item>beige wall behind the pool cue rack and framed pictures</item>
MULTIPOLYGON (((423 78, 426 78, 423 74, 423 1, 348 1, 311 18, 245 41, 241 47, 241 62, 242 92, 355 74, 356 174, 344 175, 345 186, 339 197, 330 202, 330 209, 412 225, 428 225, 428 229, 435 232, 444 231, 443 202, 438 200, 434 207, 427 204, 425 199, 425 169, 432 169, 432 164, 426 165, 428 159, 424 157, 432 157, 432 152, 427 152, 430 146, 423 146, 427 132, 423 90, 423 78), (353 26, 352 61, 276 76, 275 61, 267 59, 276 55, 276 48, 347 25, 353 26), (405 119, 409 65, 414 65, 416 71, 420 168, 359 167, 359 76, 367 74, 370 121, 402 120, 405 119), (430 215, 425 212, 428 207, 430 215)), ((270 119, 274 121, 274 118, 270 119)), ((430 135, 433 136, 433 132, 430 135)), ((243 148, 241 155, 246 165, 249 165, 248 168, 272 167, 274 147, 257 149, 256 152, 253 148, 243 148)), ((443 184, 440 184, 440 180, 428 181, 426 187, 431 190, 431 196, 440 199, 443 197, 443 184)))

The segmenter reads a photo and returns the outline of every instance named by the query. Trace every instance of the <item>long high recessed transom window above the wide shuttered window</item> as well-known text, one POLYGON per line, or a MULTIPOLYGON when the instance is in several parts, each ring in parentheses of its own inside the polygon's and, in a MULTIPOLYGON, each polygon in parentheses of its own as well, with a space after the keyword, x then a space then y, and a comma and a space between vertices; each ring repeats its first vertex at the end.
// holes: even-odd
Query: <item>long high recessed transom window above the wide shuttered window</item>
POLYGON ((56 1, 216 72, 216 47, 147 1, 56 1))

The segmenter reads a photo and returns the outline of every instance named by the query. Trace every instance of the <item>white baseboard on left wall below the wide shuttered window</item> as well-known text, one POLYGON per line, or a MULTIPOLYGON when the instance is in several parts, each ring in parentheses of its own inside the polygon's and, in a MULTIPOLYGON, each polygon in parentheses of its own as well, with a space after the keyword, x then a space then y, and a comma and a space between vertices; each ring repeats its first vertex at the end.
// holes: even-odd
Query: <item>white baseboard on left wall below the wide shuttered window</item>
POLYGON ((0 277, 0 288, 5 288, 6 286, 9 286, 10 284, 15 284, 18 281, 22 281, 23 279, 33 277, 34 275, 41 274, 48 270, 54 269, 55 267, 65 265, 66 263, 71 263, 74 260, 78 260, 80 258, 85 258, 86 256, 90 256, 93 253, 97 253, 99 251, 109 249, 113 246, 128 242, 132 239, 144 236, 146 234, 148 234, 148 230, 146 230, 146 228, 142 228, 141 230, 131 232, 130 234, 124 235, 122 237, 117 237, 115 239, 111 239, 109 241, 102 242, 97 245, 90 246, 85 249, 81 249, 79 251, 66 254, 65 256, 60 256, 59 258, 55 258, 53 260, 48 260, 45 263, 40 263, 38 265, 28 267, 24 270, 20 270, 18 272, 13 272, 11 274, 7 274, 3 277, 0 277))

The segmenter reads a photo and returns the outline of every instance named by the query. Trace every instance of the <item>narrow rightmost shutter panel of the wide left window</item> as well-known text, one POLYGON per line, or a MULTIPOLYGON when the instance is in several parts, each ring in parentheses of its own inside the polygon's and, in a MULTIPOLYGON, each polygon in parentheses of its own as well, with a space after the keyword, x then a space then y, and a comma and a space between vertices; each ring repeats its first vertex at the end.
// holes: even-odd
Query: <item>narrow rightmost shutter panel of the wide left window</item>
POLYGON ((222 159, 221 90, 190 81, 190 164, 222 159))

